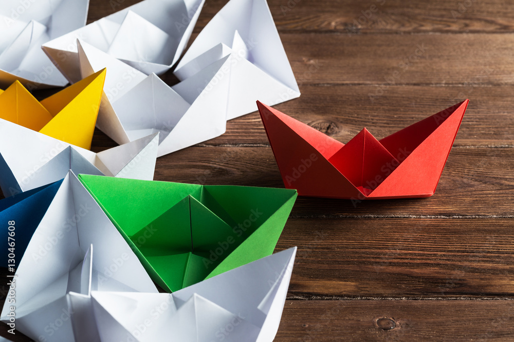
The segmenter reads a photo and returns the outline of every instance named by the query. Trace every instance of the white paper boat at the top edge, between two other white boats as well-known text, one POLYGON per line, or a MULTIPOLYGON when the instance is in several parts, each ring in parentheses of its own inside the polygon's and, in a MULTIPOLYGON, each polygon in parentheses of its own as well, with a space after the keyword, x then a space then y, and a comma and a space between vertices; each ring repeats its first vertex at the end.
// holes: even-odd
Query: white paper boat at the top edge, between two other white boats
POLYGON ((77 39, 146 75, 162 74, 189 41, 205 0, 144 0, 43 44, 71 82, 81 79, 77 39))

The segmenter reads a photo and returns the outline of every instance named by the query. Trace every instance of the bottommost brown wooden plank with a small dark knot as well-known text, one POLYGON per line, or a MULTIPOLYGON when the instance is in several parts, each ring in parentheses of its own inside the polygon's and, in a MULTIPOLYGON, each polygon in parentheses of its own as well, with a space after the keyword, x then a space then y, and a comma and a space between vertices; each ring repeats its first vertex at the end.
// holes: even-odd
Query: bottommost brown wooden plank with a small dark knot
POLYGON ((275 340, 506 341, 513 322, 507 300, 288 300, 275 340))

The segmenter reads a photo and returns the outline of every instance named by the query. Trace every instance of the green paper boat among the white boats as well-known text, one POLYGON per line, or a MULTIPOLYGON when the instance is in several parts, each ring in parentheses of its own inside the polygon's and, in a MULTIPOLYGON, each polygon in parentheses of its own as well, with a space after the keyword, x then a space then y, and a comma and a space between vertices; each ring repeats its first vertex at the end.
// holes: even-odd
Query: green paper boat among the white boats
POLYGON ((169 292, 271 255, 297 197, 290 189, 79 179, 169 292))

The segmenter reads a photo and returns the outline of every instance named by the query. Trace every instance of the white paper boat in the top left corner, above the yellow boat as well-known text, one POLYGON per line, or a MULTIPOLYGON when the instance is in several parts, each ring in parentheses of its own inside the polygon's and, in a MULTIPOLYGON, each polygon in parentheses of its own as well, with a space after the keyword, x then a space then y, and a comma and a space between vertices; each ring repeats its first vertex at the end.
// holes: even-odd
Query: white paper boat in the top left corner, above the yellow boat
POLYGON ((68 81, 41 45, 86 24, 89 0, 3 0, 0 3, 0 87, 16 79, 27 89, 68 81))

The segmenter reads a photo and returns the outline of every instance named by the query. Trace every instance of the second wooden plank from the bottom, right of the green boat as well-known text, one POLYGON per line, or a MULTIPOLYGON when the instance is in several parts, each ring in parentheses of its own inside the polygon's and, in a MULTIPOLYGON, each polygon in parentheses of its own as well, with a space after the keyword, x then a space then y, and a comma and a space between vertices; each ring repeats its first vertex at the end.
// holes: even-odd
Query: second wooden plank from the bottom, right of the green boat
POLYGON ((497 218, 289 218, 293 297, 514 298, 514 231, 497 218))

